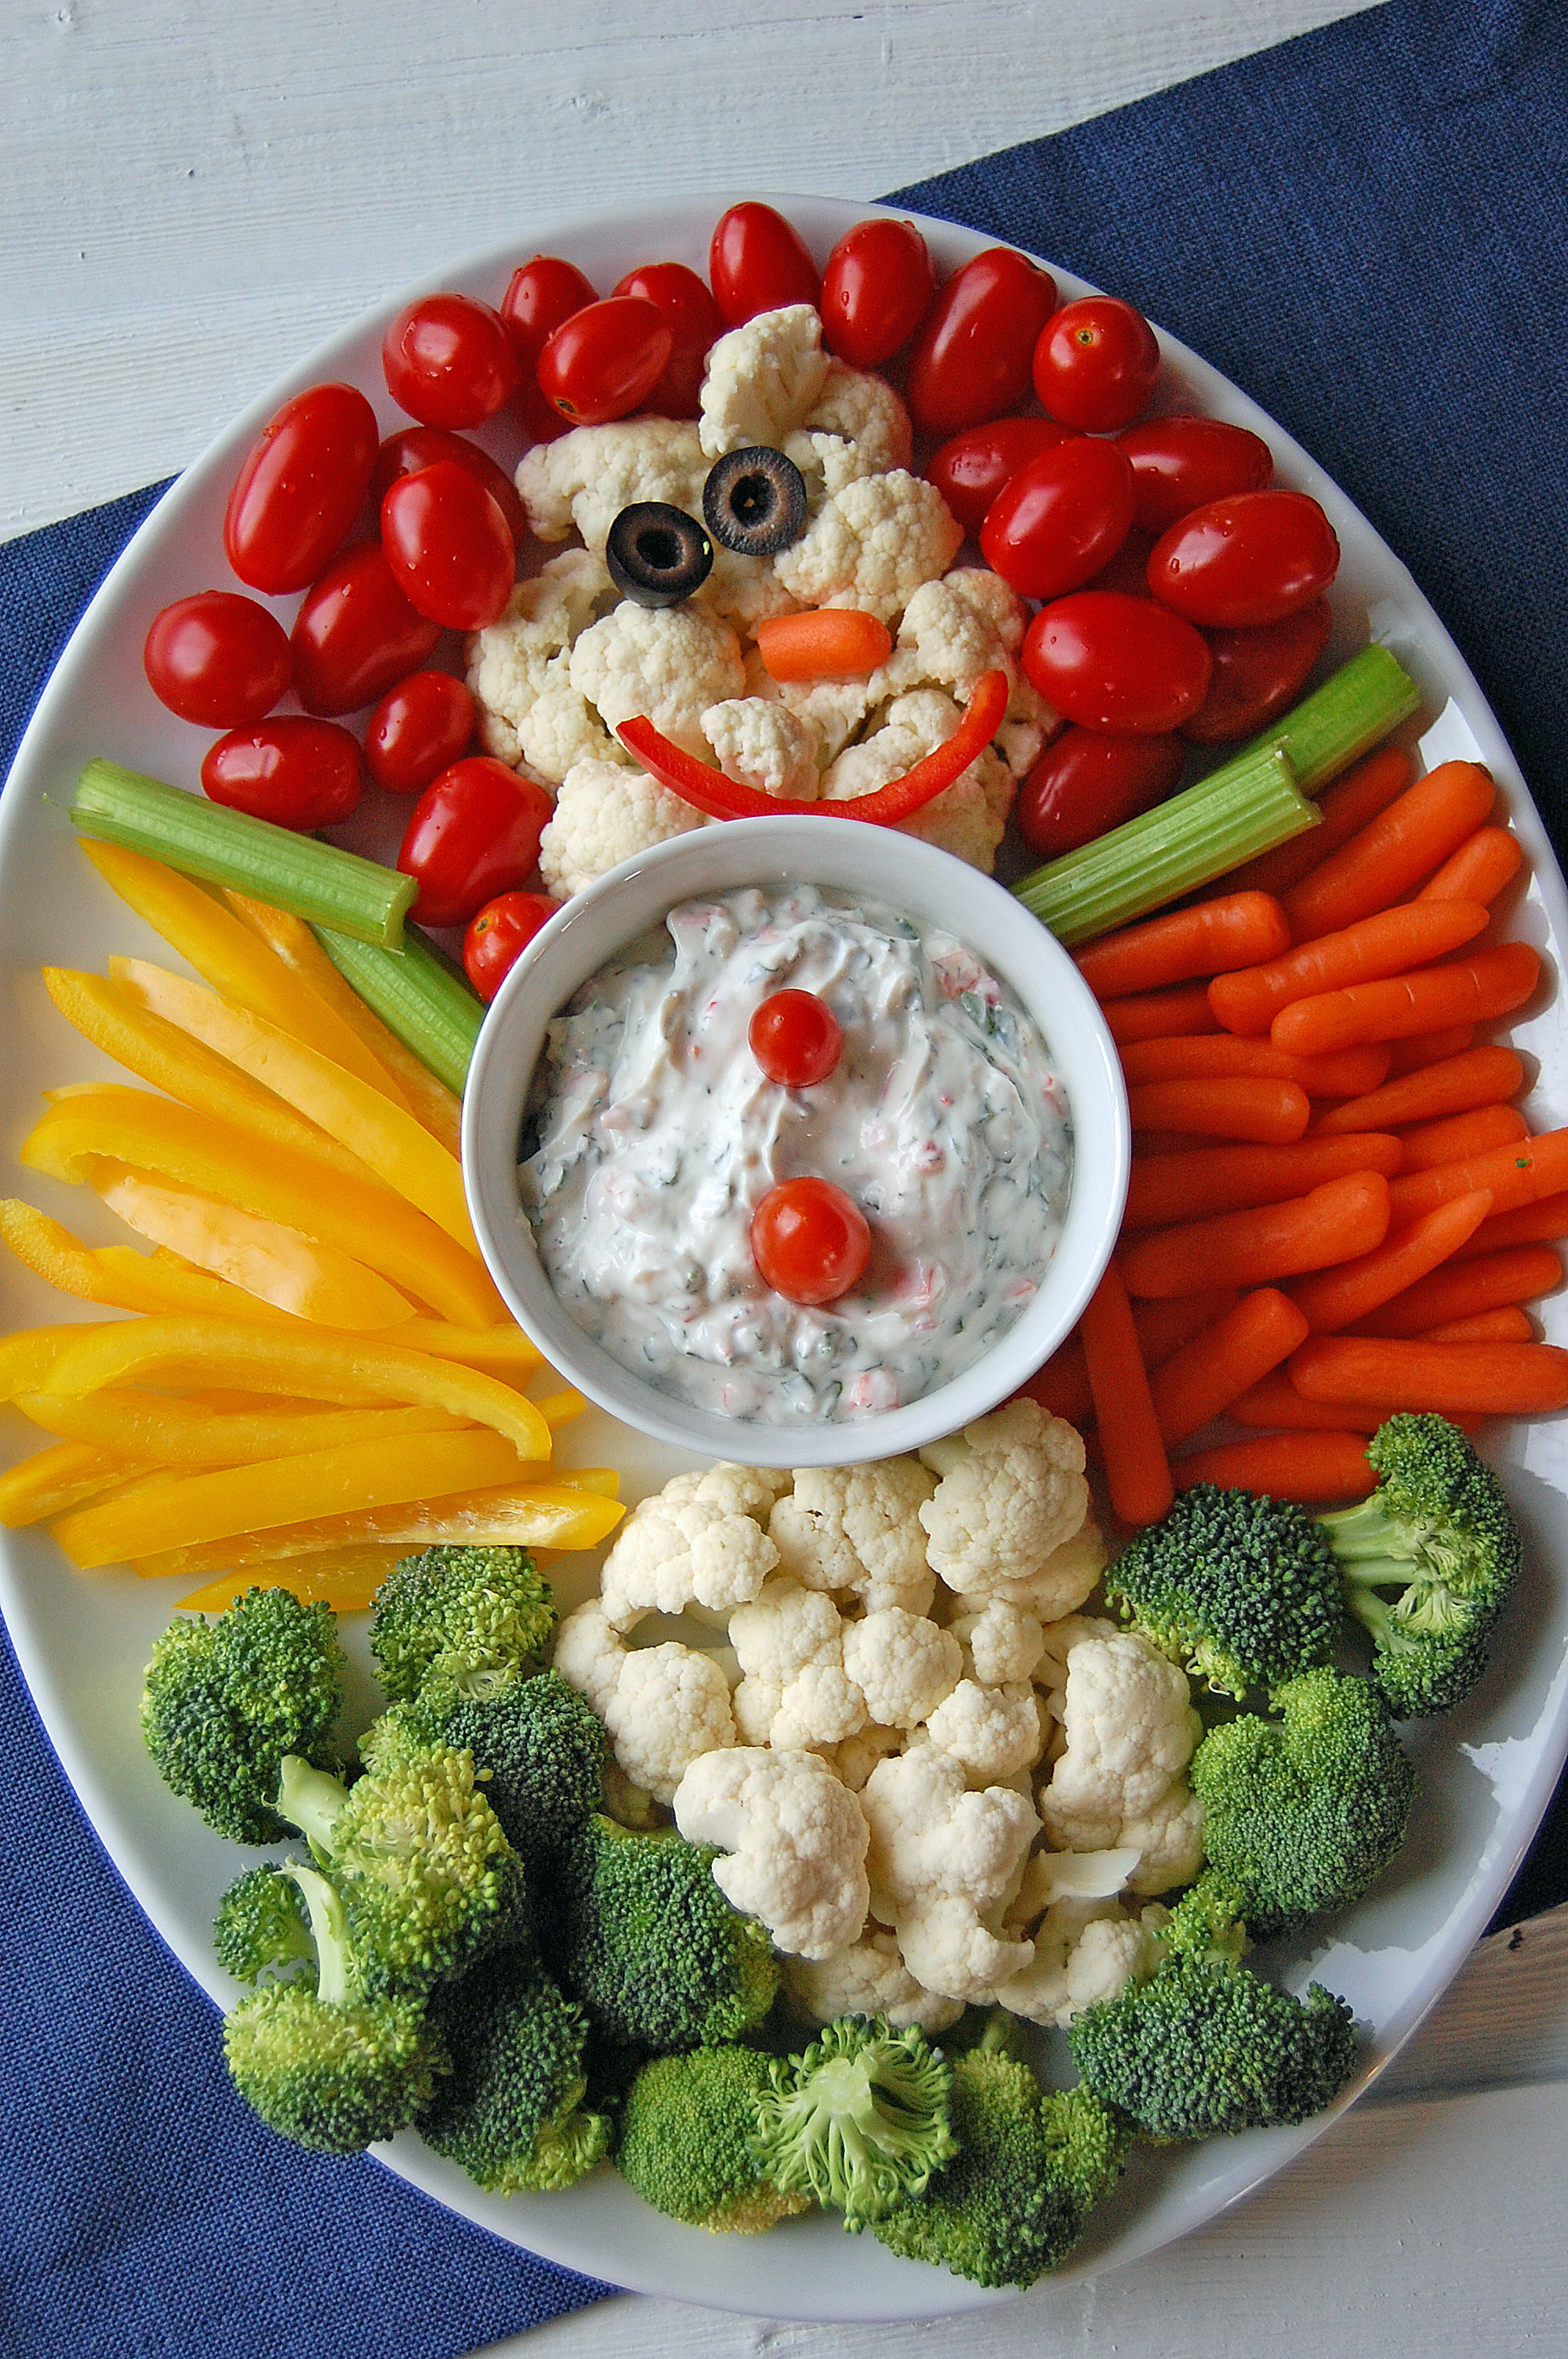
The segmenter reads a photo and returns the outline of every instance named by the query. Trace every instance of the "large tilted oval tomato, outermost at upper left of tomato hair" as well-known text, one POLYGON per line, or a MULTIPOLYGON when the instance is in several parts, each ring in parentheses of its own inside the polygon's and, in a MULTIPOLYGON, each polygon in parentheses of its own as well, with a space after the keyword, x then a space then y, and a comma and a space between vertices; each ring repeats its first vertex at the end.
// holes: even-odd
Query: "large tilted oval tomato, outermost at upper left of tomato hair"
POLYGON ((262 427, 224 510, 224 554, 250 590, 304 590, 349 538, 375 469, 375 410, 351 385, 311 385, 262 427))

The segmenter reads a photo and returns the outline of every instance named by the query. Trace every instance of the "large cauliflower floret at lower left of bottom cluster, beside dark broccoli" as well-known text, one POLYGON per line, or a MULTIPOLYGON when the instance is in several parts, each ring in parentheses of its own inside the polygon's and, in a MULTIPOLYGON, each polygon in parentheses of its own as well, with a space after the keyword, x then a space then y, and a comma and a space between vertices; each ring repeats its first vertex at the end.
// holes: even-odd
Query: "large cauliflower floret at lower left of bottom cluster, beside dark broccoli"
POLYGON ((868 1828, 856 1795, 816 1753, 731 1746, 696 1760, 674 1793, 689 1842, 712 1842, 719 1892, 795 1958, 832 1958, 870 1906, 868 1828))

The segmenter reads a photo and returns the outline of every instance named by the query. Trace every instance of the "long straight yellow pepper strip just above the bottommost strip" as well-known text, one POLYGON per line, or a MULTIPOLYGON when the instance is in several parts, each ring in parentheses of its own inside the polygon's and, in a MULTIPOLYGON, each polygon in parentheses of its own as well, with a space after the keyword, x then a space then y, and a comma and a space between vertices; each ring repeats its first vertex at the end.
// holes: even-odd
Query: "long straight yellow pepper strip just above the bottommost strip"
POLYGON ((332 1451, 257 1458, 207 1474, 163 1474, 106 1505, 75 1507, 54 1538, 80 1571, 127 1564, 165 1548, 229 1540, 349 1507, 389 1507, 424 1491, 467 1491, 516 1477, 516 1448, 502 1434, 427 1434, 349 1441, 332 1451))

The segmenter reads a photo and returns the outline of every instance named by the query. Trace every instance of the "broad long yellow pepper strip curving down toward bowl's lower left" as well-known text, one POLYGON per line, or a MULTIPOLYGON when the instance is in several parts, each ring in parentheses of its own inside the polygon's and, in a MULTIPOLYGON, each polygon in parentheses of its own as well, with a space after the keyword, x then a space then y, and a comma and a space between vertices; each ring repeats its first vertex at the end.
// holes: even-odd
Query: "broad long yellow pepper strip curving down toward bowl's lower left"
POLYGON ((321 1168, 304 1156, 285 1146, 259 1156, 243 1130, 146 1090, 111 1083, 73 1092, 42 1116, 19 1156, 28 1170, 54 1180, 87 1177, 85 1165, 99 1156, 130 1163, 340 1246, 460 1326, 490 1326, 505 1316, 483 1262, 401 1196, 344 1177, 323 1184, 321 1168))

